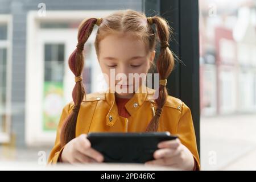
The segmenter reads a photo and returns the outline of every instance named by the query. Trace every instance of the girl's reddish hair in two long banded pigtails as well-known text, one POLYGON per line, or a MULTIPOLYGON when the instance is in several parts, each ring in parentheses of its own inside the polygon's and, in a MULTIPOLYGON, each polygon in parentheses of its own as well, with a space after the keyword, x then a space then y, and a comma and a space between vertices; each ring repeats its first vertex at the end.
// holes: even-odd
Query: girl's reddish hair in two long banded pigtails
MULTIPOLYGON (((159 73, 160 79, 167 79, 172 69, 174 68, 174 56, 171 50, 168 48, 168 42, 171 34, 171 28, 168 26, 167 21, 160 16, 152 16, 152 23, 156 26, 157 36, 148 23, 146 15, 134 10, 117 11, 113 14, 102 19, 100 24, 94 46, 96 48, 97 56, 99 55, 99 44, 109 34, 115 34, 115 32, 131 32, 137 36, 139 40, 142 40, 147 50, 153 51, 156 46, 156 41, 161 45, 158 60, 156 61, 156 68, 159 73)), ((92 33, 93 27, 96 24, 96 18, 85 19, 79 26, 78 44, 75 51, 72 52, 69 57, 69 68, 75 76, 81 76, 82 69, 84 68, 84 56, 82 55, 82 49, 86 40, 88 40, 92 33)), ((162 108, 167 100, 168 92, 166 86, 159 85, 159 97, 156 99, 158 107, 156 109, 155 116, 151 119, 147 126, 146 131, 157 131, 159 125, 159 117, 162 112, 162 108)), ((76 82, 72 92, 72 97, 75 106, 71 114, 68 115, 61 130, 60 142, 61 146, 64 146, 70 140, 75 138, 76 134, 76 121, 79 113, 79 108, 82 99, 86 96, 84 86, 82 82, 76 82)))

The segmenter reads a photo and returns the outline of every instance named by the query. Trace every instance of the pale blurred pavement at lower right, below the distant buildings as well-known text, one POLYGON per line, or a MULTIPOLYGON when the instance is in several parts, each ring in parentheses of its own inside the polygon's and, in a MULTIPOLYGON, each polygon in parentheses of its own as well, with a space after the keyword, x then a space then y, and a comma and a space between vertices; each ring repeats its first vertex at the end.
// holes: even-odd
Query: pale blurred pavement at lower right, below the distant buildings
POLYGON ((256 169, 256 114, 201 118, 203 170, 256 169))

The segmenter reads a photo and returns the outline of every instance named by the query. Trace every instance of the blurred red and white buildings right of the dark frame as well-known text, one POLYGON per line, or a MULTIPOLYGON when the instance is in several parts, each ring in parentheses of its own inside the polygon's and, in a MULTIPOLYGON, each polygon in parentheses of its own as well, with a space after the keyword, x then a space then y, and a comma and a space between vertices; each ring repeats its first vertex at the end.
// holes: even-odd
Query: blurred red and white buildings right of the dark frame
POLYGON ((201 114, 255 113, 255 4, 200 2, 201 114))

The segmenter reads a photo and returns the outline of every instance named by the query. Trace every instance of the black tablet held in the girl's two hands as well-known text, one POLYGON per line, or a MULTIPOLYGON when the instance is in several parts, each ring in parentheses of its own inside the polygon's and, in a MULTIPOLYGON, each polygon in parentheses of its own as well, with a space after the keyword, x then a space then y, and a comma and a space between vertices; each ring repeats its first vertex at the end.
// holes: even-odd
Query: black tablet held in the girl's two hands
POLYGON ((104 155, 108 163, 144 163, 153 160, 158 143, 177 136, 169 132, 89 133, 92 148, 104 155))

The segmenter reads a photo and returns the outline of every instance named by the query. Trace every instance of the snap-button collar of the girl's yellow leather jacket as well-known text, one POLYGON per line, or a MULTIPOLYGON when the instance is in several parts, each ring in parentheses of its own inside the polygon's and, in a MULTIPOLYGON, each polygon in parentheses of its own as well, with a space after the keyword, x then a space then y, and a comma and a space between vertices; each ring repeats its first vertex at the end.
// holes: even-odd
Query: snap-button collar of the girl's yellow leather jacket
MULTIPOLYGON (((129 114, 133 115, 133 113, 135 113, 139 107, 141 107, 144 101, 150 99, 148 96, 151 96, 152 93, 154 93, 153 89, 150 89, 146 85, 142 84, 125 105, 129 114), (139 90, 141 92, 139 92, 139 90)), ((110 88, 108 88, 107 92, 105 92, 105 99, 110 105, 110 110, 106 115, 106 125, 113 126, 119 118, 119 114, 117 104, 115 103, 115 93, 110 88)))

